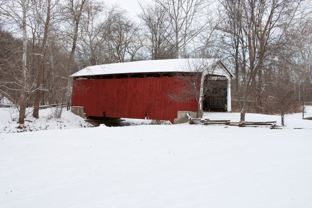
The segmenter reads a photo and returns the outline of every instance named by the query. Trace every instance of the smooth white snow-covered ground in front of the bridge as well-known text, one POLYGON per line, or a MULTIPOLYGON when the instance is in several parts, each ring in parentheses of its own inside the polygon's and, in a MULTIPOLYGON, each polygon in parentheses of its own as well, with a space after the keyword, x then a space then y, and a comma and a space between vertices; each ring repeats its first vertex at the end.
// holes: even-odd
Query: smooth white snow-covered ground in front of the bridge
POLYGON ((312 121, 300 118, 287 116, 290 129, 185 123, 0 133, 0 207, 312 207, 312 121))

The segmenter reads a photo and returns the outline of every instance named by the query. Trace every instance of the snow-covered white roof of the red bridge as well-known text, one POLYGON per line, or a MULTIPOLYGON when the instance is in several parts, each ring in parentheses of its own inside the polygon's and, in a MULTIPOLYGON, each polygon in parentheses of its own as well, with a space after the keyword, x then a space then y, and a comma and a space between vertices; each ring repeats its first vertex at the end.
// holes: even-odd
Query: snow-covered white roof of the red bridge
MULTIPOLYGON (((205 62, 206 65, 213 65, 218 61, 219 59, 166 59, 103 64, 88 66, 71 75, 71 77, 126 73, 183 72, 188 71, 187 67, 183 67, 186 64, 205 62)), ((232 75, 230 71, 228 72, 232 75)))

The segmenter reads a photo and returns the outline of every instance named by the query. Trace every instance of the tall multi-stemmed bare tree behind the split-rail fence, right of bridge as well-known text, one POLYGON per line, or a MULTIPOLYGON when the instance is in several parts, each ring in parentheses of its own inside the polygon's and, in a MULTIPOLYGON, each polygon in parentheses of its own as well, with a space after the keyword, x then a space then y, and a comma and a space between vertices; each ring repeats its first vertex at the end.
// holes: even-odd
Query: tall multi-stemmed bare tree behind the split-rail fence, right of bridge
MULTIPOLYGON (((221 2, 221 1, 220 1, 221 2)), ((224 42, 233 58, 235 68, 236 96, 245 120, 247 102, 255 93, 255 109, 261 113, 261 93, 265 92, 262 76, 273 51, 280 46, 285 28, 299 17, 302 1, 222 1, 226 19, 223 31, 228 35, 224 42)))

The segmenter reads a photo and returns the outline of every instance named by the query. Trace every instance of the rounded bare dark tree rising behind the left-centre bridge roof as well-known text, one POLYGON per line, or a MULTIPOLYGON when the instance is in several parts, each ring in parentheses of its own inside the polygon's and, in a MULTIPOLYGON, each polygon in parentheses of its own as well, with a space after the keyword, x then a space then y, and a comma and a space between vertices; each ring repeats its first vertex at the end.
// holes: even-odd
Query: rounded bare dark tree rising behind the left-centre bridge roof
POLYGON ((139 27, 118 5, 89 4, 77 48, 80 63, 88 66, 133 61, 143 45, 139 27))

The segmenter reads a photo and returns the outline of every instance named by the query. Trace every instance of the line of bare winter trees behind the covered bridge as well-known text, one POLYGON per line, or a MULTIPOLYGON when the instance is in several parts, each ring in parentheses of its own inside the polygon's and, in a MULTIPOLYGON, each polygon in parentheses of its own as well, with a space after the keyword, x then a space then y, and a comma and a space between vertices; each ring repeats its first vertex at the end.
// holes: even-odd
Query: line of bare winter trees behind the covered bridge
MULTIPOLYGON (((0 94, 25 108, 66 102, 69 75, 138 60, 219 58, 233 108, 284 115, 311 102, 310 0, 154 0, 134 20, 96 0, 0 1, 0 94)), ((282 117, 283 118, 283 117, 282 117)))

